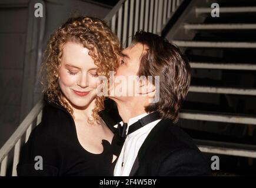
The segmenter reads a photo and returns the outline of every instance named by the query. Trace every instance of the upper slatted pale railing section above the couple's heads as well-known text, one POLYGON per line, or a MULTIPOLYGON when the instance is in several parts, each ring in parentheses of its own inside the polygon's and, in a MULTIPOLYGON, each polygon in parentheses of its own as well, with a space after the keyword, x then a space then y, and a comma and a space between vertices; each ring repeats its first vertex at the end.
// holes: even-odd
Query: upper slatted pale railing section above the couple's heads
POLYGON ((138 30, 160 35, 182 1, 121 0, 105 16, 104 21, 117 34, 121 44, 127 47, 138 30))

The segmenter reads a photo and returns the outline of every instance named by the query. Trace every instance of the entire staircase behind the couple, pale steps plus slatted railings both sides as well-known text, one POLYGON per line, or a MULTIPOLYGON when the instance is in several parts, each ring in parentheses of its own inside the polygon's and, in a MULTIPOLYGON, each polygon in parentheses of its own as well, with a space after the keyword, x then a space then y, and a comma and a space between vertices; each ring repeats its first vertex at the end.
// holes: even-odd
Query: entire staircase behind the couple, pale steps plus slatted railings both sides
MULTIPOLYGON (((188 56, 192 81, 178 126, 205 155, 256 158, 256 2, 120 0, 105 17, 124 48, 138 29, 165 36, 188 56), (220 17, 211 17, 211 4, 220 17)), ((41 121, 42 102, 0 150, 1 176, 16 176, 19 151, 41 121), (14 155, 12 155, 14 152, 14 155)), ((228 158, 230 157, 230 158, 228 158)))

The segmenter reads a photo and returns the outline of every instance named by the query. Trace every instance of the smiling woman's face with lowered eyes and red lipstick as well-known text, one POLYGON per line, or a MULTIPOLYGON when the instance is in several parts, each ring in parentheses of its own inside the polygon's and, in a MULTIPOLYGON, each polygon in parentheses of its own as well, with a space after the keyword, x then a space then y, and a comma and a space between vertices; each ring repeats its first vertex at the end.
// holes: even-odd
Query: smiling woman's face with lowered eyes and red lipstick
POLYGON ((97 66, 89 56, 89 49, 79 43, 65 43, 59 69, 59 86, 74 108, 84 108, 95 99, 97 76, 97 66))

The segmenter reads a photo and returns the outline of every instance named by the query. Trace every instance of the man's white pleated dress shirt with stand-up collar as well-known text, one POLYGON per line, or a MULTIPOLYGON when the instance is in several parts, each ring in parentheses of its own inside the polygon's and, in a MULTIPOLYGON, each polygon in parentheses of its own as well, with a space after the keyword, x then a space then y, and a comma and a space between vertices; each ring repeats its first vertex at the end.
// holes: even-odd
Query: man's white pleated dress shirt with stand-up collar
MULTIPOLYGON (((129 119, 127 132, 130 125, 147 115, 148 113, 143 113, 142 115, 129 119)), ((161 119, 158 119, 154 122, 148 123, 140 129, 135 130, 135 132, 127 135, 124 146, 122 147, 121 153, 118 157, 117 164, 115 164, 114 176, 129 176, 142 143, 145 141, 149 132, 151 132, 153 127, 157 125, 160 120, 161 119)), ((120 124, 123 125, 123 122, 120 122, 120 124)))

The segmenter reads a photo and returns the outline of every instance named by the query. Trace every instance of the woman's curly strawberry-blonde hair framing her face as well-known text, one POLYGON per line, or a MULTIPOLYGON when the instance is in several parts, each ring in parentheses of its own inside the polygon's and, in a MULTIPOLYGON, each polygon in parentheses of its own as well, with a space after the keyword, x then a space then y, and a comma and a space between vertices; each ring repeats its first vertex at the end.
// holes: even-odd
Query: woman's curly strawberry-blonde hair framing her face
MULTIPOLYGON (((98 66, 97 74, 107 78, 109 78, 109 71, 115 71, 118 68, 121 46, 117 36, 112 33, 106 22, 82 16, 69 18, 49 39, 45 60, 40 70, 43 92, 48 102, 63 106, 74 117, 73 109, 59 88, 58 72, 62 49, 67 42, 81 43, 88 48, 89 55, 98 66)), ((94 120, 99 120, 98 112, 104 109, 104 96, 97 96, 95 103, 92 117, 94 120)))

